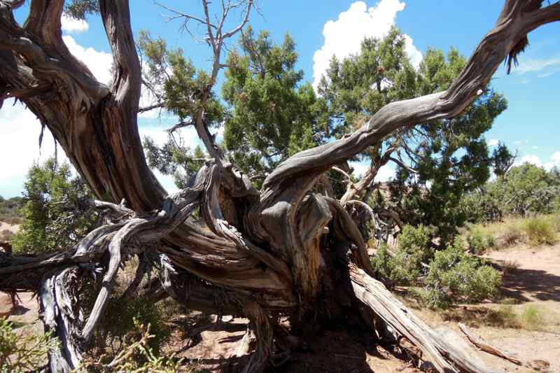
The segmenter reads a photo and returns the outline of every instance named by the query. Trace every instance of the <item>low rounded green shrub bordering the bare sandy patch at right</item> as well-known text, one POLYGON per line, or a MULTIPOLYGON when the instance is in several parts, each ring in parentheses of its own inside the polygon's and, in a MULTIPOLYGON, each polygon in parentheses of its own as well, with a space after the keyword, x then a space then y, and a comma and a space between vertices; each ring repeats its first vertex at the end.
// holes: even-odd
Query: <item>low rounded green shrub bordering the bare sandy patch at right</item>
POLYGON ((445 308, 454 300, 479 302, 496 295, 501 274, 465 253, 463 242, 456 237, 453 244, 435 253, 425 285, 416 293, 419 300, 430 308, 445 308))

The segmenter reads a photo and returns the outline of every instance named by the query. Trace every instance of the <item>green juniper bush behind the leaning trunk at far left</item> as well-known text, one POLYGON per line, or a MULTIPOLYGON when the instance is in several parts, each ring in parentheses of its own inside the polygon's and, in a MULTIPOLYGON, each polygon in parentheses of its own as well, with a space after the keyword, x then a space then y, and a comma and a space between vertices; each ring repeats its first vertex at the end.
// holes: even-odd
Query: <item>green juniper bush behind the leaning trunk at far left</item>
POLYGON ((69 164, 54 158, 34 164, 25 182, 23 222, 13 237, 14 252, 59 251, 76 244, 96 221, 84 203, 90 197, 85 182, 71 177, 69 164))

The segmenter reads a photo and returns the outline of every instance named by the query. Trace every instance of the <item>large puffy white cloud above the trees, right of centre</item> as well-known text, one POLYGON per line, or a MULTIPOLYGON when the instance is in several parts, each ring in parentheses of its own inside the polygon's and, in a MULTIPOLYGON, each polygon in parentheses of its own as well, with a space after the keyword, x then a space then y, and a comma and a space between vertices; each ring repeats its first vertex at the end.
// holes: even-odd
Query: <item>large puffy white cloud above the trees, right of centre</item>
MULTIPOLYGON (((381 0, 376 6, 367 8, 364 1, 356 1, 350 8, 339 14, 338 19, 329 20, 323 27, 325 43, 313 56, 314 87, 328 68, 332 55, 343 59, 357 53, 360 43, 367 37, 382 38, 395 24, 395 17, 405 3, 399 0, 381 0)), ((405 34, 405 50, 416 68, 422 53, 414 46, 412 38, 405 34)))

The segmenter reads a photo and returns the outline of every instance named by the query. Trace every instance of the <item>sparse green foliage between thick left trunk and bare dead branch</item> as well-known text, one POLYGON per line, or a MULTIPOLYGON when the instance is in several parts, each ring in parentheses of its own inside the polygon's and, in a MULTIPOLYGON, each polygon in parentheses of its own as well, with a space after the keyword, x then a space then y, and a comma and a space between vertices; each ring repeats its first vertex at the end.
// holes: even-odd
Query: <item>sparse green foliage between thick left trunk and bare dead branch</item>
MULTIPOLYGON (((204 124, 209 128, 221 125, 226 112, 212 90, 215 82, 211 82, 208 73, 195 69, 183 56, 183 50, 169 50, 162 38, 153 38, 148 31, 139 32, 137 44, 146 64, 143 80, 151 98, 163 101, 165 110, 177 115, 182 125, 193 125, 200 115, 204 115, 204 124)), ((187 146, 179 133, 169 134, 163 146, 145 137, 144 150, 150 167, 173 175, 179 188, 186 185, 207 157, 200 147, 187 146)))

